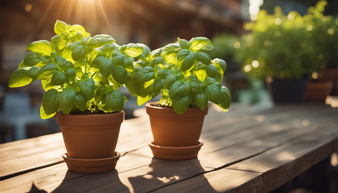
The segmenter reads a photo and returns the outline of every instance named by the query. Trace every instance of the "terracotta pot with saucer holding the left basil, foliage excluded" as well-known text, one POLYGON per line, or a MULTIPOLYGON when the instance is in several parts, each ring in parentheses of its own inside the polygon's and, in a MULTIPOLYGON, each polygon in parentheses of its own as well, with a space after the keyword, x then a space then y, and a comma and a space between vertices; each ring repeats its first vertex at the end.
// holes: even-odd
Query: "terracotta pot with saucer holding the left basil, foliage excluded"
POLYGON ((68 168, 74 171, 71 168, 81 166, 75 172, 98 173, 105 171, 102 167, 110 163, 110 167, 106 168, 109 169, 107 171, 112 170, 118 160, 116 156, 119 157, 115 148, 123 119, 123 111, 101 115, 65 115, 57 112, 56 120, 60 124, 67 150, 63 158, 68 168))

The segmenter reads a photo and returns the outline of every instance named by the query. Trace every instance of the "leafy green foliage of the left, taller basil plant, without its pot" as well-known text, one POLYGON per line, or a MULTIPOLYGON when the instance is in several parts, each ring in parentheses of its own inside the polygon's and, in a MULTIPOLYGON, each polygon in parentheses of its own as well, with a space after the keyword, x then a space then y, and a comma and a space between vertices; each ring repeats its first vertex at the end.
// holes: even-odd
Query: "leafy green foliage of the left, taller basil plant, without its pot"
POLYGON ((143 53, 137 44, 119 46, 110 35, 94 35, 81 25, 57 20, 56 35, 31 43, 28 53, 9 78, 9 87, 22 87, 39 79, 46 91, 42 119, 74 111, 122 111, 125 96, 118 90, 133 72, 134 57, 143 53))

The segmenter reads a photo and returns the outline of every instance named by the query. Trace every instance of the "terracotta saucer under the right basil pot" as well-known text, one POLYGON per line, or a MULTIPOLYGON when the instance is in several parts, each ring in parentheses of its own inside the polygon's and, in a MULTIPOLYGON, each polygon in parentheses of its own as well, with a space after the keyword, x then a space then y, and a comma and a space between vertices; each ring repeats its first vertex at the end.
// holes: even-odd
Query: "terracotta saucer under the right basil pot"
POLYGON ((188 160, 197 157, 198 151, 203 145, 202 140, 198 140, 199 144, 189 147, 165 147, 155 145, 154 142, 149 142, 148 145, 155 158, 164 160, 188 160))

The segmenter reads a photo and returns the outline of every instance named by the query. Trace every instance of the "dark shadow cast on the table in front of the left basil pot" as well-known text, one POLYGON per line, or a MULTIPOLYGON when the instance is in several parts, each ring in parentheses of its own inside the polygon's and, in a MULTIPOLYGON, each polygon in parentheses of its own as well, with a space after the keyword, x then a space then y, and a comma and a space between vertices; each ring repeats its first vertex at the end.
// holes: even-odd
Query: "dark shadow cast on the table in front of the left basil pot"
POLYGON ((116 169, 96 174, 76 173, 67 170, 62 183, 54 190, 53 180, 57 182, 57 179, 53 178, 34 180, 29 192, 107 192, 107 189, 109 189, 108 192, 129 192, 129 189, 121 183, 116 169), (39 190, 39 188, 43 190, 39 190))

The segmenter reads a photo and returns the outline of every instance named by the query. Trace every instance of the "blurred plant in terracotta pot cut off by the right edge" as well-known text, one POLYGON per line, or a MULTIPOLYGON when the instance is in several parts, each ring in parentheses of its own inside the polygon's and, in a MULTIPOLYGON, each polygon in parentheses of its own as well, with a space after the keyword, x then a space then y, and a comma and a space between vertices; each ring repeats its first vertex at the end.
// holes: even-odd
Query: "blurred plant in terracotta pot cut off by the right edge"
POLYGON ((311 39, 317 49, 318 66, 315 81, 309 82, 307 100, 325 101, 328 94, 338 95, 338 17, 324 15, 327 1, 318 1, 304 16, 307 26, 313 26, 311 39), (333 90, 332 90, 333 88, 333 90), (331 92, 332 90, 332 92, 331 92), (313 95, 313 96, 312 96, 313 95))

